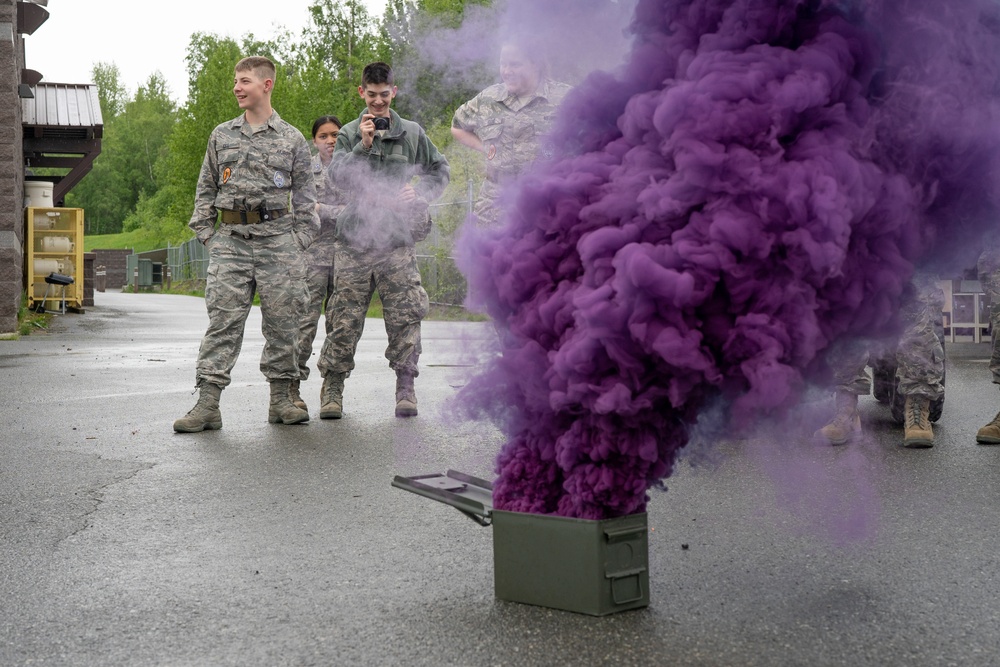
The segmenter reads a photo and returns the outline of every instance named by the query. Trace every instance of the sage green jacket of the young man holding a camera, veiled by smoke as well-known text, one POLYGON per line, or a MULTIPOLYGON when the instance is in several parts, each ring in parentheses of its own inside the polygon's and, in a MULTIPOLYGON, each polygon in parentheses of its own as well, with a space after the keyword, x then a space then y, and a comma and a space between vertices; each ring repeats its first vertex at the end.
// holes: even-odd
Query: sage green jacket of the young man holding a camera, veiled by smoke
POLYGON ((437 199, 451 177, 448 160, 417 123, 389 110, 389 129, 376 132, 371 149, 361 143, 361 116, 337 137, 327 188, 339 189, 345 207, 337 218, 337 238, 355 248, 391 249, 414 245, 414 232, 427 220, 427 203, 437 199), (413 185, 422 201, 404 206, 399 191, 413 185))

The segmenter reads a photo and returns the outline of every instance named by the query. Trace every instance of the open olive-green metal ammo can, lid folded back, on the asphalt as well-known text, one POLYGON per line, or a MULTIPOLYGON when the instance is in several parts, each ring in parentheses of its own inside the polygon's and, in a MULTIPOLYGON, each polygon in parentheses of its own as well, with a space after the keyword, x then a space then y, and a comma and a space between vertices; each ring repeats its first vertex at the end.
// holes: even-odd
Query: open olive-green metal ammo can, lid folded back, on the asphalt
POLYGON ((645 513, 591 520, 496 510, 491 483, 453 470, 392 485, 492 525, 497 599, 591 616, 649 606, 645 513))

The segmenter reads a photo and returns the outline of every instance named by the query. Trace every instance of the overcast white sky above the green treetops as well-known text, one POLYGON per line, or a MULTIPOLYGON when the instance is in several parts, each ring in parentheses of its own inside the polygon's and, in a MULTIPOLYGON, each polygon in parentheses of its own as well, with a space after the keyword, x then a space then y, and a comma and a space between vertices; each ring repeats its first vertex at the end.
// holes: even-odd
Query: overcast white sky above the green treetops
MULTIPOLYGON (((298 36, 313 0, 49 0, 48 20, 24 37, 28 69, 52 83, 90 83, 94 63, 114 63, 135 90, 159 71, 178 103, 187 97, 184 55, 195 32, 273 37, 279 26, 298 36)), ((385 0, 365 0, 381 17, 385 0)))

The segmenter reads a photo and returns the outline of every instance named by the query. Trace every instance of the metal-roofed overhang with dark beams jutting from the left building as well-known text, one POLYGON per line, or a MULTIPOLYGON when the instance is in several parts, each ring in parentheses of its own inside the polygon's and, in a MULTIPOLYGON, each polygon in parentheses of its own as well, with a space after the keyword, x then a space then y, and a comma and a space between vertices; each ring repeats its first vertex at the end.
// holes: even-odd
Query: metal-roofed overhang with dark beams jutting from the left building
POLYGON ((21 100, 24 166, 69 170, 54 181, 52 198, 59 205, 101 152, 101 103, 92 83, 39 82, 34 94, 21 100))

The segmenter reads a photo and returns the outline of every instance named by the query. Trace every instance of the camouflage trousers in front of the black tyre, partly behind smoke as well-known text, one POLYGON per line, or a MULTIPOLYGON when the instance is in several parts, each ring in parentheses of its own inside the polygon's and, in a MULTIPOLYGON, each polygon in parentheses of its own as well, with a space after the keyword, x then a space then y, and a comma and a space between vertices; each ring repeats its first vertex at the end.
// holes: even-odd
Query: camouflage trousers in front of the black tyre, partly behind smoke
POLYGON ((935 401, 944 396, 944 346, 939 329, 944 293, 936 277, 918 274, 902 303, 903 332, 895 344, 872 349, 852 342, 830 354, 838 391, 866 395, 872 381, 866 366, 876 358, 894 357, 899 393, 926 396, 935 401))

